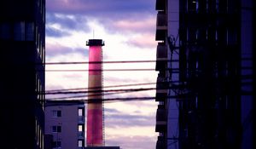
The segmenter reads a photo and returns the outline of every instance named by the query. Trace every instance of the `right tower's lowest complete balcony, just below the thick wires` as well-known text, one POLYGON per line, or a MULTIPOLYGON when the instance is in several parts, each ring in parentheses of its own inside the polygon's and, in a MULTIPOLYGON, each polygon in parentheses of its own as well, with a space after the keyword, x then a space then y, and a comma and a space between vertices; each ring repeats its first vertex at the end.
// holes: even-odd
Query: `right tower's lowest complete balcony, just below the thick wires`
POLYGON ((156 111, 156 123, 155 132, 166 132, 167 122, 166 122, 166 108, 163 105, 159 105, 156 111))

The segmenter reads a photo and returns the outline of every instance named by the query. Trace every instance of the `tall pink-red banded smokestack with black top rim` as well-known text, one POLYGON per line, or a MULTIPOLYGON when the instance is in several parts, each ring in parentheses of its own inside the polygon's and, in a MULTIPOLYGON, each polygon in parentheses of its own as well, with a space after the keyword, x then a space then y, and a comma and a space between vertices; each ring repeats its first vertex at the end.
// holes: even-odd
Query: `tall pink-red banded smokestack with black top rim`
MULTIPOLYGON (((102 39, 90 39, 89 46, 89 80, 90 90, 102 90, 102 39), (100 63, 93 63, 93 62, 100 63)), ((87 104, 87 146, 103 146, 103 110, 101 92, 88 94, 87 104), (90 102, 92 101, 92 102, 90 102), (96 101, 96 102, 94 102, 96 101)))

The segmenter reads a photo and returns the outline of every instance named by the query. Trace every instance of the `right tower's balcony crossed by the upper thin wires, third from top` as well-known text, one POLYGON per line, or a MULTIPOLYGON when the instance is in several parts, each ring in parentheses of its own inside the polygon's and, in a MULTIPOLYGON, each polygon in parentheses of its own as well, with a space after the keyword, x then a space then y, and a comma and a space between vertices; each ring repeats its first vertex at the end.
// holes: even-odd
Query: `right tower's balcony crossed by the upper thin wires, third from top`
POLYGON ((156 49, 156 71, 164 71, 167 67, 167 46, 165 43, 158 43, 156 49))

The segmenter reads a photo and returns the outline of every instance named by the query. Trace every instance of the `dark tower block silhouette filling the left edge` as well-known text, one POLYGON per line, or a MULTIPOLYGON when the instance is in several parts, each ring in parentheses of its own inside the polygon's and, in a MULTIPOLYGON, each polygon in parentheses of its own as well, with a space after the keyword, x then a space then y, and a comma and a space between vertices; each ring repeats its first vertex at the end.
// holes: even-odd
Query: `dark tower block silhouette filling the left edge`
POLYGON ((0 148, 44 148, 45 0, 0 2, 0 148))

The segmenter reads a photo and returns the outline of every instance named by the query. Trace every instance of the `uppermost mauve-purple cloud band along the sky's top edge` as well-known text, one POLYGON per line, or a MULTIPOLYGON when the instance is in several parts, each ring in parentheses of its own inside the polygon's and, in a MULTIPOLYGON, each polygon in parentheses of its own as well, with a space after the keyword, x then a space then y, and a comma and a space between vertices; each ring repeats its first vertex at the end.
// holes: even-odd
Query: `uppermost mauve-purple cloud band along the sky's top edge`
POLYGON ((155 0, 46 0, 46 8, 48 12, 55 13, 113 17, 114 14, 148 12, 154 9, 154 2, 155 0))

